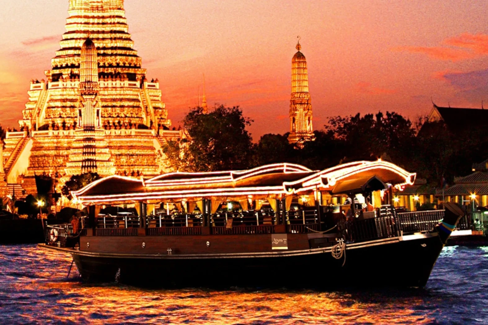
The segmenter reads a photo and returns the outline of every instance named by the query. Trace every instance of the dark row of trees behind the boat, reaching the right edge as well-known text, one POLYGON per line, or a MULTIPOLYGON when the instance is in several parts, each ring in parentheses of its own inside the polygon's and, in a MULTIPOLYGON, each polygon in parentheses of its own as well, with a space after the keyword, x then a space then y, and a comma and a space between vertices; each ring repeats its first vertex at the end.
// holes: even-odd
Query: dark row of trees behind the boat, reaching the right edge
POLYGON ((248 169, 290 162, 323 170, 353 160, 391 161, 429 186, 452 184, 454 176, 471 172, 473 162, 488 158, 488 131, 473 127, 452 131, 444 122, 419 119, 415 125, 395 112, 331 117, 315 141, 302 148, 288 134, 264 134, 256 145, 245 130, 251 120, 238 107, 217 106, 209 114, 192 109, 184 119, 191 140, 170 141, 163 152, 180 171, 248 169))

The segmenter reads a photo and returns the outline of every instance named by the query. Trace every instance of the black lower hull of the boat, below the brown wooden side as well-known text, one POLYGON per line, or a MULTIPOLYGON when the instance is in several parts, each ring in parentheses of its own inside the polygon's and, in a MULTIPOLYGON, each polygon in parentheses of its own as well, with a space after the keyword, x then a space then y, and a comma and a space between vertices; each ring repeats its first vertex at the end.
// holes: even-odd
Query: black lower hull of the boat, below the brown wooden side
POLYGON ((71 253, 82 278, 90 282, 150 287, 424 287, 443 247, 437 233, 427 233, 346 244, 340 259, 332 256, 331 247, 214 255, 71 253))

